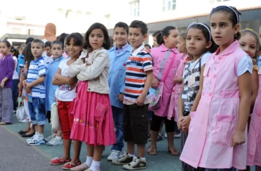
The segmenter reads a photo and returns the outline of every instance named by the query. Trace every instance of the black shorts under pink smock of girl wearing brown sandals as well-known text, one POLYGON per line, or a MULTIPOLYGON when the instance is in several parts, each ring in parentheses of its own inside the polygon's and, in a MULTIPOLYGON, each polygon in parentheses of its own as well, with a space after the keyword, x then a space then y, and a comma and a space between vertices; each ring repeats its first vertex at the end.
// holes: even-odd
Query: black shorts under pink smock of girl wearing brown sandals
POLYGON ((167 116, 157 116, 153 114, 150 129, 152 131, 160 131, 162 120, 165 122, 166 132, 175 132, 174 117, 169 120, 167 116))

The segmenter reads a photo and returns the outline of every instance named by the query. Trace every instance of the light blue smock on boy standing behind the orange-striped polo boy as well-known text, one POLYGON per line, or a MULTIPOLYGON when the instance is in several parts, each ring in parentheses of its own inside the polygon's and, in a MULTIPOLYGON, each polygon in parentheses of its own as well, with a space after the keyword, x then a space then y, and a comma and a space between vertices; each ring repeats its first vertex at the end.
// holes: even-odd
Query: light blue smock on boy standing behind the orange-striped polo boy
POLYGON ((131 50, 132 47, 129 44, 123 46, 120 51, 118 48, 116 49, 116 45, 108 50, 110 56, 108 84, 110 86, 110 102, 114 107, 123 108, 118 95, 124 93, 126 62, 131 50))

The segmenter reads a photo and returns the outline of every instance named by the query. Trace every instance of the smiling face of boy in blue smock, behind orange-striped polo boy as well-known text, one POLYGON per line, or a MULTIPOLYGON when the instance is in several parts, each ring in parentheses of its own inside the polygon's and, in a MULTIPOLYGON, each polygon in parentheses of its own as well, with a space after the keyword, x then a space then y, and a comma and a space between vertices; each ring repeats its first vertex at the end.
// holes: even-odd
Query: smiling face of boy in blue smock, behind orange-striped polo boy
POLYGON ((122 47, 127 43, 128 34, 125 28, 116 27, 114 29, 113 38, 116 42, 116 46, 122 47))

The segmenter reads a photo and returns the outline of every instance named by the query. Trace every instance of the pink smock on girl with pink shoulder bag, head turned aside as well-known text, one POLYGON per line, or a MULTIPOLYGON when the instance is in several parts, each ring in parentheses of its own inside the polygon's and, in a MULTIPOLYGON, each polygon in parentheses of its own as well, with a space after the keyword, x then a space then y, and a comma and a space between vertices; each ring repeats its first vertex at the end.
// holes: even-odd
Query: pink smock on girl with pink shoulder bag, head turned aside
POLYGON ((164 77, 172 58, 175 58, 170 73, 164 83, 161 107, 155 110, 150 109, 157 116, 168 116, 170 95, 175 85, 173 79, 176 75, 182 53, 179 53, 177 48, 168 49, 164 44, 161 44, 161 46, 151 49, 151 55, 153 59, 153 74, 156 78, 164 77))

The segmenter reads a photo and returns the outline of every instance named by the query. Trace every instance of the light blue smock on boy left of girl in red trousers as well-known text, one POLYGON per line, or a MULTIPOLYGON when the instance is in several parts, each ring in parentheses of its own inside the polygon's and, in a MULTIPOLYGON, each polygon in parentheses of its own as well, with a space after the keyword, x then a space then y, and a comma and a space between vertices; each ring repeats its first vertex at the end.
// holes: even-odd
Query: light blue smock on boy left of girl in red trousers
POLYGON ((55 73, 57 73, 60 62, 64 59, 63 56, 50 62, 46 76, 45 76, 45 87, 46 87, 46 99, 45 99, 45 110, 51 110, 52 104, 55 102, 55 90, 58 85, 52 85, 52 79, 55 73))

